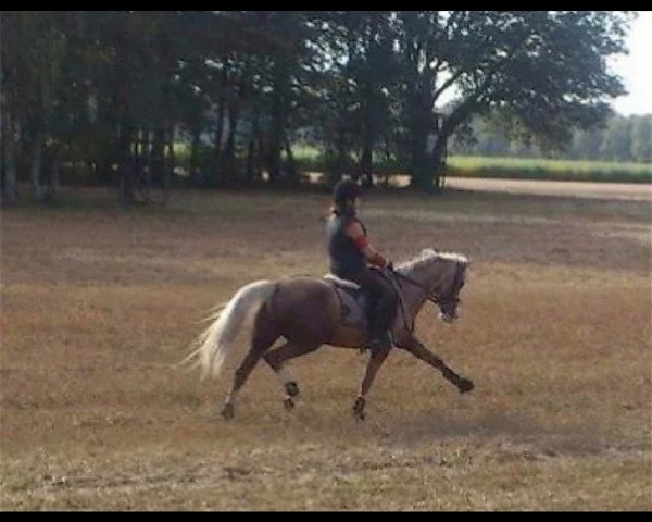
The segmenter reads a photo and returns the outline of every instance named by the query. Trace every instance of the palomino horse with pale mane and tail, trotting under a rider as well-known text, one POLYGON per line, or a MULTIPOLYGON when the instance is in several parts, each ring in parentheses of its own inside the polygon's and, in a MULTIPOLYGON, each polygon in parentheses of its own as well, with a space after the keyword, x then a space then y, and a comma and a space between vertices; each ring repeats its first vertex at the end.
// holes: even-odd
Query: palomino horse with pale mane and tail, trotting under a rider
MULTIPOLYGON (((394 345, 440 370, 460 393, 471 391, 473 383, 447 366, 415 337, 413 330, 415 318, 427 300, 439 306, 439 316, 443 321, 451 323, 457 318, 459 296, 466 281, 467 268, 468 260, 464 256, 427 249, 388 274, 400 296, 391 331, 394 345)), ((349 282, 348 285, 352 284, 349 282)), ((342 286, 346 287, 347 283, 328 277, 258 281, 240 288, 224 308, 210 318, 212 324, 185 359, 185 362, 200 366, 202 376, 217 375, 246 320, 254 320, 251 348, 235 372, 233 388, 222 410, 225 419, 234 417, 237 394, 261 358, 279 376, 286 391, 285 405, 292 408, 292 397, 299 395, 299 387, 286 368, 288 360, 310 353, 322 345, 358 349, 366 345, 366 321, 351 325, 342 320, 342 286), (286 343, 271 350, 279 337, 284 337, 286 343)), ((364 419, 365 397, 390 350, 371 353, 353 406, 353 414, 359 419, 364 419)))

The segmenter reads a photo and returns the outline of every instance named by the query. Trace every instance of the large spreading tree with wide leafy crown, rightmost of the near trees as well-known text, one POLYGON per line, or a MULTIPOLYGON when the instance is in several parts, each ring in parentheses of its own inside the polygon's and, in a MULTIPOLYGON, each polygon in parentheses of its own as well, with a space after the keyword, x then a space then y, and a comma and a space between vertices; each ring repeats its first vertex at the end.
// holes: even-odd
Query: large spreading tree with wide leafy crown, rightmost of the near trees
POLYGON ((606 58, 630 15, 611 11, 400 12, 404 135, 413 185, 428 190, 461 125, 490 110, 512 135, 562 146, 624 94, 606 58), (446 114, 440 99, 453 92, 446 114), (428 136, 434 139, 427 148, 428 136))

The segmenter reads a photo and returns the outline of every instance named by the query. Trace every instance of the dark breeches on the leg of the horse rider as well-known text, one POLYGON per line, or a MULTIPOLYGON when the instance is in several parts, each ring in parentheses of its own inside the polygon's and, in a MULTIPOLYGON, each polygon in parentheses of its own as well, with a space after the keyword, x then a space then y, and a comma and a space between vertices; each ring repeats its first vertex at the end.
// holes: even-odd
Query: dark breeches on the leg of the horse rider
POLYGON ((378 337, 391 327, 394 319, 398 296, 389 281, 372 269, 346 274, 346 278, 358 283, 369 299, 367 307, 369 334, 378 337))

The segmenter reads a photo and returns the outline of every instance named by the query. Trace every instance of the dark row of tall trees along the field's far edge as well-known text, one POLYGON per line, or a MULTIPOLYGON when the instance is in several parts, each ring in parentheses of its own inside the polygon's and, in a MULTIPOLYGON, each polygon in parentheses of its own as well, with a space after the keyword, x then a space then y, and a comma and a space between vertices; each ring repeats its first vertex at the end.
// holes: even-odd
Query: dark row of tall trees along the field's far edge
POLYGON ((450 139, 499 114, 521 138, 569 141, 624 94, 605 60, 614 11, 3 11, 2 201, 57 197, 62 176, 170 186, 294 185, 301 129, 328 179, 374 182, 391 158, 436 189, 450 139), (444 102, 446 100, 446 102, 444 102), (208 152, 206 152, 208 150, 208 152))

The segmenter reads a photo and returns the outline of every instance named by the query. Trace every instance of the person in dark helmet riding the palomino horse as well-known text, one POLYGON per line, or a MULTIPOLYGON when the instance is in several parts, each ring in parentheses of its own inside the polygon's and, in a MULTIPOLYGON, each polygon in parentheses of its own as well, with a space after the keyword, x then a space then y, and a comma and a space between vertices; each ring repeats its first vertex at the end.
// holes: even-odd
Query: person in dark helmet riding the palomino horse
POLYGON ((328 254, 330 272, 343 279, 358 283, 369 299, 369 348, 389 348, 389 328, 398 304, 398 296, 377 270, 392 269, 392 264, 369 243, 366 228, 358 219, 356 210, 362 196, 360 185, 351 181, 339 182, 333 192, 333 215, 328 220, 328 254), (368 263, 368 264, 367 264, 368 263))

